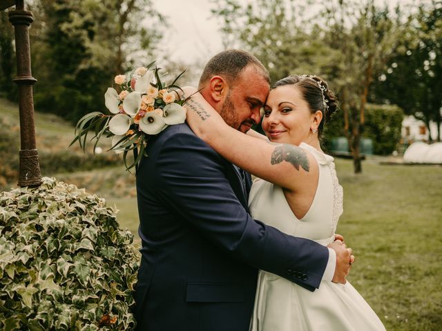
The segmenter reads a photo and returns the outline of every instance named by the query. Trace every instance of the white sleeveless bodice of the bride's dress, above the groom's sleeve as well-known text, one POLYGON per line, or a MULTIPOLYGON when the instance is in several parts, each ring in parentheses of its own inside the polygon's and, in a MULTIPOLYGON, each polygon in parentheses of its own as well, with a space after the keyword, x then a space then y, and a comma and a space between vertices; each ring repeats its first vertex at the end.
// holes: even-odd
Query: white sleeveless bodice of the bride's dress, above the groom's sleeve
POLYGON ((282 232, 327 244, 343 212, 343 189, 336 177, 333 157, 306 143, 301 143, 300 148, 310 152, 319 165, 318 187, 307 214, 298 219, 282 188, 262 179, 256 179, 252 185, 249 208, 253 218, 282 232))

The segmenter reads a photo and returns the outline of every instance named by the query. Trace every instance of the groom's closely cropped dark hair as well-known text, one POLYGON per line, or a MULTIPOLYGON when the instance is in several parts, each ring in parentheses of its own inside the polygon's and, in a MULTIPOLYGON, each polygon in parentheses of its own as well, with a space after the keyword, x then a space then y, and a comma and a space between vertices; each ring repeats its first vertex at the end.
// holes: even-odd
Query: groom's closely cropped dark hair
POLYGON ((223 50, 207 62, 202 71, 198 86, 199 88, 203 88, 213 76, 221 76, 226 79, 229 86, 233 86, 235 80, 238 79, 245 68, 251 65, 255 66, 256 70, 258 70, 258 72, 262 74, 262 77, 270 84, 269 72, 260 60, 252 54, 244 50, 223 50))

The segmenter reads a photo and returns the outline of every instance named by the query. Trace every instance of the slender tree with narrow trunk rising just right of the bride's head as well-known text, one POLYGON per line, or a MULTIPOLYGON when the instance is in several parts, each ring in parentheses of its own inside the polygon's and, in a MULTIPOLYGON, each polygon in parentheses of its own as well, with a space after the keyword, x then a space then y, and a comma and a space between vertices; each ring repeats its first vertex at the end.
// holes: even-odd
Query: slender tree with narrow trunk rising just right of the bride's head
POLYGON ((385 70, 385 64, 401 45, 401 12, 396 16, 385 5, 338 1, 325 3, 327 34, 324 42, 334 50, 332 81, 339 91, 344 128, 354 160, 354 172, 362 172, 360 141, 365 126, 369 88, 385 70))

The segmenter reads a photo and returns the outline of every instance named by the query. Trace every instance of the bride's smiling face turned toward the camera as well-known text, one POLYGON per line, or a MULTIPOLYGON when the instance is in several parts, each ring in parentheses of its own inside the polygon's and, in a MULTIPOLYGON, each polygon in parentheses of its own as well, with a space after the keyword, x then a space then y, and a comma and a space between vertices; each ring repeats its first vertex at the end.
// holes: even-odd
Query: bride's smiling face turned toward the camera
POLYGON ((298 88, 285 85, 270 91, 262 120, 270 141, 299 145, 309 138, 313 121, 314 114, 298 88))

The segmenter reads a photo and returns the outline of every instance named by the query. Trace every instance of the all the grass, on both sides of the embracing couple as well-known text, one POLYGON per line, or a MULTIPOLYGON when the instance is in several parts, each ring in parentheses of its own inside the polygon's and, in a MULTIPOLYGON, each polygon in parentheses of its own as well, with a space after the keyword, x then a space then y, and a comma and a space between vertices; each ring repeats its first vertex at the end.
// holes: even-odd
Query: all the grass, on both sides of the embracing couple
MULTIPOLYGON (((17 106, 0 99, 0 116, 18 122, 17 106)), ((67 148, 69 123, 50 114, 37 114, 36 122, 39 150, 67 148)), ((345 195, 338 232, 356 255, 349 281, 387 330, 442 330, 442 167, 380 165, 373 158, 358 176, 349 160, 337 159, 336 169, 345 195)), ((123 166, 44 176, 106 198, 137 236, 135 181, 123 166)))

